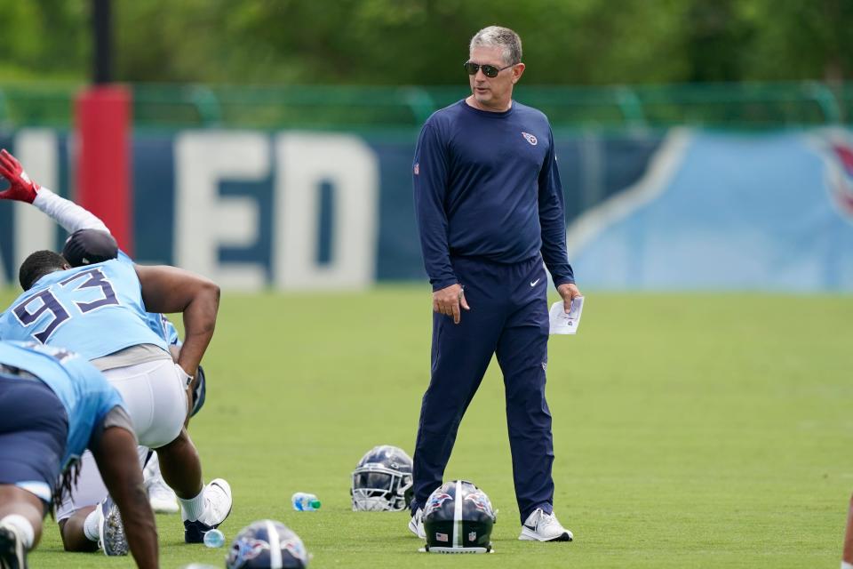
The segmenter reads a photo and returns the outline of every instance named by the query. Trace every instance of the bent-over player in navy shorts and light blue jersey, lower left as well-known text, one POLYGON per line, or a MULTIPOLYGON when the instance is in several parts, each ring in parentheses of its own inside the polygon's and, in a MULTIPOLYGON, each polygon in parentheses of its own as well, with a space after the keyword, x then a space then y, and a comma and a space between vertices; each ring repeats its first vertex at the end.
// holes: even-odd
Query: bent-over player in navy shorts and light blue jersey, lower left
POLYGON ((68 492, 87 447, 121 510, 136 564, 157 567, 154 514, 121 396, 68 350, 0 341, 0 567, 27 567, 44 514, 68 492))

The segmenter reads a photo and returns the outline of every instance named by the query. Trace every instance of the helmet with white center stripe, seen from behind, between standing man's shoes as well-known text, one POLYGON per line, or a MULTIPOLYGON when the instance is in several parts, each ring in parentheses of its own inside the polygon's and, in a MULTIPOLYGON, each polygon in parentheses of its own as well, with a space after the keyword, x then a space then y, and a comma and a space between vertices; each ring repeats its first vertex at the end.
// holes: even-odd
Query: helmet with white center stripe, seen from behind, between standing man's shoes
POLYGON ((452 480, 429 495, 424 506, 426 551, 488 553, 497 516, 489 496, 466 480, 452 480))

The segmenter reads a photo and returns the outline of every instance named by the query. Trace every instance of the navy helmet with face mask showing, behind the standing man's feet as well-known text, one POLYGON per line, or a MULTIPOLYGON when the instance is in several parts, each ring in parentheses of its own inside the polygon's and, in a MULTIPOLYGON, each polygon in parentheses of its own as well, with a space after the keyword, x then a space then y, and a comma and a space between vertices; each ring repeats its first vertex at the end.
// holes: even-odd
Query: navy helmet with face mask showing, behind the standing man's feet
POLYGON ((353 511, 401 511, 412 494, 411 458, 401 448, 374 446, 353 470, 353 511))

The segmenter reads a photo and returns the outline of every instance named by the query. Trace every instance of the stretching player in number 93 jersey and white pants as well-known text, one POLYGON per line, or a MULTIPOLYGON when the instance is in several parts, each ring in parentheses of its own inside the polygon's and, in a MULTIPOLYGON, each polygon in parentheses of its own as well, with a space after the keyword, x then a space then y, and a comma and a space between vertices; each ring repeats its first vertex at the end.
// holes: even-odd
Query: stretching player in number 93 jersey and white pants
MULTIPOLYGON (((201 462, 184 428, 185 389, 211 341, 219 287, 178 268, 140 267, 122 259, 70 268, 49 251, 24 261, 20 284, 25 293, 0 317, 0 337, 73 349, 105 374, 122 393, 140 444, 159 452, 163 477, 180 499, 185 541, 203 541, 230 513, 231 491, 219 478, 203 485, 201 462), (143 306, 183 313, 187 336, 177 365, 166 342, 147 326, 143 306)), ((97 484, 91 478, 77 486, 92 488, 97 484)), ((66 549, 95 549, 94 505, 103 494, 75 492, 60 505, 66 549)))

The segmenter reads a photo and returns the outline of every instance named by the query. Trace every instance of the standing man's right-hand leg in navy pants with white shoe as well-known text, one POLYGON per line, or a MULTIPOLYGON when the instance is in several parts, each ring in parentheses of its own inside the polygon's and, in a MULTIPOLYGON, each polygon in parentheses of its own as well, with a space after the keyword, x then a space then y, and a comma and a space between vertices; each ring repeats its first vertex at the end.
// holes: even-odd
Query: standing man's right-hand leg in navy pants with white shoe
MULTIPOLYGON (((547 277, 541 262, 517 267, 514 282, 516 309, 507 318, 498 340, 498 364, 504 373, 506 423, 513 455, 513 479, 518 509, 525 525, 531 515, 553 520, 554 439, 551 413, 545 397, 548 309, 547 277), (534 283, 532 286, 530 283, 534 283)), ((531 523, 536 526, 536 523, 531 523)), ((559 524, 557 524, 559 525, 559 524)), ((571 533, 562 526, 549 527, 554 535, 545 541, 569 541, 571 533), (559 532, 557 530, 560 530, 559 532)), ((542 528, 540 528, 541 530, 542 528)), ((538 539, 535 538, 535 539, 538 539)))

